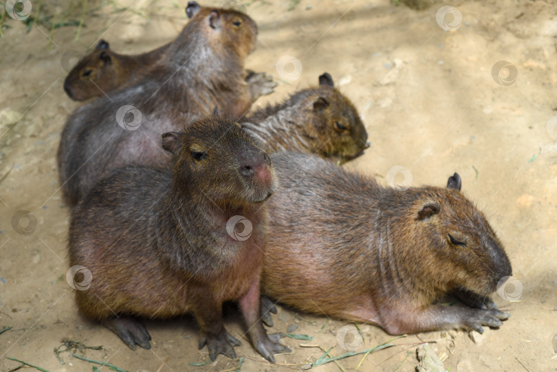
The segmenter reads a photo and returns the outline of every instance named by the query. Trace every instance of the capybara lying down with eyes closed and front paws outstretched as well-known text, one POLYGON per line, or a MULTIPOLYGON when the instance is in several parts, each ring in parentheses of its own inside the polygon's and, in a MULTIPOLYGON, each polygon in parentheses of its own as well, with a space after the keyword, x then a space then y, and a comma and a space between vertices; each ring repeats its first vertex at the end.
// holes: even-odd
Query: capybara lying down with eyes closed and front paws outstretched
POLYGON ((264 294, 391 334, 508 318, 488 296, 509 259, 457 173, 446 188, 399 190, 316 156, 271 159, 281 187, 267 202, 264 294), (435 304, 450 293, 470 307, 435 304))

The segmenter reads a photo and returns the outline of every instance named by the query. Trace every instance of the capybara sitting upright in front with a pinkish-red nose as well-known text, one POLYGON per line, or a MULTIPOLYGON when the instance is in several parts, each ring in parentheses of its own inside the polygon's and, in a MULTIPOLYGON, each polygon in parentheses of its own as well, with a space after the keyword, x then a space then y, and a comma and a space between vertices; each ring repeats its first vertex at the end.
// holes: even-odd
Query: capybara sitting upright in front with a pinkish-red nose
POLYGON ((149 349, 151 339, 133 316, 193 313, 199 348, 207 344, 215 360, 236 357, 239 341, 221 312, 224 301, 237 300, 254 348, 274 362, 287 348, 268 338, 259 307, 264 202, 277 188, 270 157, 221 116, 162 137, 173 168, 120 168, 72 212, 69 263, 91 273, 88 289, 76 292, 79 310, 131 349, 149 349))

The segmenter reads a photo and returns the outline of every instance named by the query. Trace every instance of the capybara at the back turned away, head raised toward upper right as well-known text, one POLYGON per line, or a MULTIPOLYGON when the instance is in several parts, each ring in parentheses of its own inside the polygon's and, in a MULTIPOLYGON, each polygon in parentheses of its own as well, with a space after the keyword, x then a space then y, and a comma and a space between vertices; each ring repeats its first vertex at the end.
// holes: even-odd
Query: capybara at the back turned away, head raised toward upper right
POLYGON ((188 3, 187 12, 191 20, 156 69, 68 118, 57 160, 69 206, 113 169, 131 162, 166 164, 168 155, 158 146, 161 133, 175 131, 214 107, 241 116, 273 86, 264 74, 250 74, 246 80, 243 61, 257 34, 250 17, 201 8, 195 1, 188 3))

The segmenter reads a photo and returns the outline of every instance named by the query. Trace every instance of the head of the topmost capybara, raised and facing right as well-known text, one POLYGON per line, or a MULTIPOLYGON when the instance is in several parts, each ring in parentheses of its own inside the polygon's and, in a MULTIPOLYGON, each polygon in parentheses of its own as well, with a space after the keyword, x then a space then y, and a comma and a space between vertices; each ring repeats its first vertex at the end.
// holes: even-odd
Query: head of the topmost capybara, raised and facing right
POLYGON ((248 56, 254 48, 257 25, 248 14, 233 9, 205 8, 195 1, 188 2, 186 14, 190 22, 203 23, 208 33, 208 40, 218 38, 226 52, 234 52, 240 58, 248 56))

